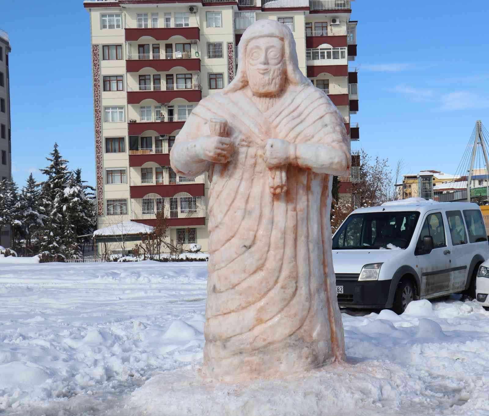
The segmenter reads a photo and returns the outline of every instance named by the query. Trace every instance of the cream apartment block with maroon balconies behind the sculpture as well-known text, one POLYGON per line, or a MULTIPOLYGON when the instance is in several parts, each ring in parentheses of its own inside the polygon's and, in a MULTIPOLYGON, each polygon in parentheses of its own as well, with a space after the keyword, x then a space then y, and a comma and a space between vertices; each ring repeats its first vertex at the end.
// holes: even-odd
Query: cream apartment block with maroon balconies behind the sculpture
POLYGON ((357 73, 348 69, 356 57, 352 1, 85 1, 99 228, 123 220, 152 225, 164 209, 171 239, 197 242, 207 251, 207 176, 179 177, 169 151, 198 102, 233 80, 237 46, 256 20, 290 28, 300 69, 328 94, 358 140, 358 125, 350 122, 358 110, 357 73))

